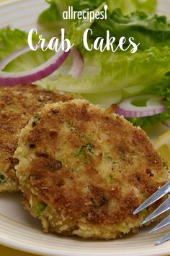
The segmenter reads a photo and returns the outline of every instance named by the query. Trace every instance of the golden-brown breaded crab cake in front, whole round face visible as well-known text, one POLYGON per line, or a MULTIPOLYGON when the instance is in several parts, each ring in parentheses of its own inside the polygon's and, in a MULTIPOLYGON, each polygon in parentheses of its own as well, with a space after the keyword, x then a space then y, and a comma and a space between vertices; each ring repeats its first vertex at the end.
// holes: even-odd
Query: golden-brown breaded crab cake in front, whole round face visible
POLYGON ((66 236, 137 231, 153 208, 133 210, 168 179, 145 132, 84 100, 45 106, 14 156, 25 207, 44 231, 66 236))

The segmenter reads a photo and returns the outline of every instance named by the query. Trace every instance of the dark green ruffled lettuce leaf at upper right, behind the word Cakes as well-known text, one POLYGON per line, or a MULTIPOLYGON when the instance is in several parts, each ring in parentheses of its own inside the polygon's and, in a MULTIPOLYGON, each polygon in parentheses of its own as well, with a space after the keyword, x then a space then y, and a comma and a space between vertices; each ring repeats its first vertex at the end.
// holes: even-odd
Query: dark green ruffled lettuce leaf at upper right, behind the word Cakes
POLYGON ((108 20, 96 20, 91 26, 93 39, 97 36, 105 37, 106 30, 118 40, 121 36, 129 38, 133 36, 140 49, 170 46, 170 22, 166 16, 134 12, 123 15, 120 9, 116 9, 109 15, 108 20))

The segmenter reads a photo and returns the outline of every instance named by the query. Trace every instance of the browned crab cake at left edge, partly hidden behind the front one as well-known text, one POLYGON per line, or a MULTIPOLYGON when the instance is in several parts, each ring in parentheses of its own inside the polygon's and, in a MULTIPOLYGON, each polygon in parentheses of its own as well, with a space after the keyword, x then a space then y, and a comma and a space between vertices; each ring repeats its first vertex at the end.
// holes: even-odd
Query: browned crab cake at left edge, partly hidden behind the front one
POLYGON ((13 158, 20 130, 46 103, 67 101, 72 95, 52 93, 35 85, 0 87, 0 191, 18 189, 13 158))

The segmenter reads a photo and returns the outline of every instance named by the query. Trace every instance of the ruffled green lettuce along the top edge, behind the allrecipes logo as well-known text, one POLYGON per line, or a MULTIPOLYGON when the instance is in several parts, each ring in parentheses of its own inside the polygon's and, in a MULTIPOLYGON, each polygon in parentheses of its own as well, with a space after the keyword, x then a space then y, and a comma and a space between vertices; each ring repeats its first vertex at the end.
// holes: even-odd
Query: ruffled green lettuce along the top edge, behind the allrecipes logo
MULTIPOLYGON (((133 4, 140 7, 148 7, 150 9, 151 0, 149 1, 112 1, 106 3, 109 6, 107 20, 63 20, 63 11, 69 6, 73 6, 75 10, 83 11, 84 9, 92 9, 94 12, 101 11, 104 7, 103 1, 88 1, 88 0, 50 0, 49 9, 42 12, 39 17, 39 22, 42 25, 55 27, 55 33, 61 33, 61 27, 66 29, 67 37, 76 45, 82 45, 82 37, 86 28, 91 27, 93 35, 91 40, 94 41, 97 37, 106 38, 106 31, 109 30, 110 36, 115 36, 117 41, 121 36, 125 38, 133 37, 136 43, 140 43, 141 49, 150 48, 151 46, 161 47, 170 46, 170 22, 166 16, 158 16, 156 14, 146 14, 146 12, 133 12, 132 14, 122 14, 122 9, 115 7, 129 7, 133 4)), ((153 4, 153 3, 152 3, 153 4)), ((154 6, 154 4, 153 4, 154 6)), ((135 9, 133 9, 135 10, 135 9)))

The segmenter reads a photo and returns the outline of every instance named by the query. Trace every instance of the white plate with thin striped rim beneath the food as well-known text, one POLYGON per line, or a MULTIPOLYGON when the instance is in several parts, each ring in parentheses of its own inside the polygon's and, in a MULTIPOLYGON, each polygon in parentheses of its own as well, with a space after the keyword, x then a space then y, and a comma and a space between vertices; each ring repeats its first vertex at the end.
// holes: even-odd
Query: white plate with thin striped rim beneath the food
MULTIPOLYGON (((170 14, 170 0, 160 0, 158 9, 170 14)), ((45 0, 9 1, 0 5, 0 27, 11 25, 24 30, 37 27, 37 16, 47 7, 45 0)), ((38 27, 40 30, 40 27, 38 27)), ((162 130, 158 131, 159 134, 162 130)), ((0 195, 0 243, 27 252, 55 256, 140 256, 170 255, 170 242, 156 247, 154 242, 166 231, 148 234, 148 228, 139 234, 114 241, 91 241, 43 234, 40 223, 23 210, 19 194, 0 195)))

